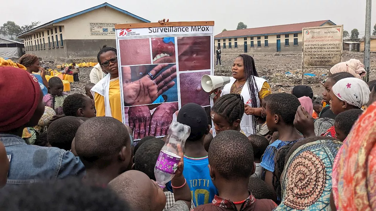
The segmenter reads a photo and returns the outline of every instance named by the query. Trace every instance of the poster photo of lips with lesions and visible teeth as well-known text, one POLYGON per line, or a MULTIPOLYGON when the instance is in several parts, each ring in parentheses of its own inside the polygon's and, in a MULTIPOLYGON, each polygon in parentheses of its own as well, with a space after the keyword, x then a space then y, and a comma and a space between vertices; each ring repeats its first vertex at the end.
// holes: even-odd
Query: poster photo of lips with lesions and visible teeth
POLYGON ((176 63, 175 37, 152 38, 153 64, 176 63))

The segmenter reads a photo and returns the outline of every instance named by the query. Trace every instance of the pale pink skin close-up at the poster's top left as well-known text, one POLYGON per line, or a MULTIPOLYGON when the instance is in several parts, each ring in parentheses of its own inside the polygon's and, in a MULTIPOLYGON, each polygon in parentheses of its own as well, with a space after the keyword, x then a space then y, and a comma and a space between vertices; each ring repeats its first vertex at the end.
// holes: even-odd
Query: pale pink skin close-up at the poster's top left
POLYGON ((119 40, 120 63, 125 65, 149 65, 152 63, 150 56, 150 39, 121 39, 119 40))

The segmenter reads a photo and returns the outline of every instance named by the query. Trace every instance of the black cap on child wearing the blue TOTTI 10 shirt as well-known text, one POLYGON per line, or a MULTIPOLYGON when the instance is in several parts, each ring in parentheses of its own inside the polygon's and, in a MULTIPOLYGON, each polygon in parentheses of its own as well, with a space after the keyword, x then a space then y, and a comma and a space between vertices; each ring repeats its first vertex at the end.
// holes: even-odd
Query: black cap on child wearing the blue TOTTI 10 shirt
POLYGON ((191 133, 186 139, 187 141, 201 140, 208 131, 208 115, 205 110, 196 103, 183 105, 177 114, 176 121, 188 125, 191 128, 191 133))

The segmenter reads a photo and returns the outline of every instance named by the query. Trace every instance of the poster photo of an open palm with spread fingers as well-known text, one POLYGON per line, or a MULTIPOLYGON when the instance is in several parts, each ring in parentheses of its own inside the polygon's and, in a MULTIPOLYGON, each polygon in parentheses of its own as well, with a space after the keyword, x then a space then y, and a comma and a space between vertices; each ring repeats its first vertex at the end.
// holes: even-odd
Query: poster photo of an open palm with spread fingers
POLYGON ((177 101, 176 64, 121 68, 124 106, 177 101))

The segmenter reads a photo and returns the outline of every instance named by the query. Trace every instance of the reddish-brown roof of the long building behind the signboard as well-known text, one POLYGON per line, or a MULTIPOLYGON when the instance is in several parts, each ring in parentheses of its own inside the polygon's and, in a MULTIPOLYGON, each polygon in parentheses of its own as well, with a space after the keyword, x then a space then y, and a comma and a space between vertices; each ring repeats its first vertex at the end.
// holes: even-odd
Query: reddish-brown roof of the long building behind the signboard
POLYGON ((257 36, 257 35, 262 36, 262 35, 273 35, 273 34, 277 35, 277 34, 284 34, 284 33, 298 33, 298 32, 302 32, 302 28, 322 26, 328 22, 333 25, 336 25, 330 20, 296 23, 296 24, 285 24, 285 25, 279 25, 279 26, 267 26, 267 27, 258 27, 258 28, 250 28, 250 29, 224 31, 224 32, 219 33, 218 35, 215 35, 214 38, 219 39, 219 38, 257 36))

